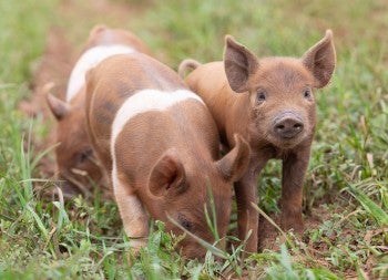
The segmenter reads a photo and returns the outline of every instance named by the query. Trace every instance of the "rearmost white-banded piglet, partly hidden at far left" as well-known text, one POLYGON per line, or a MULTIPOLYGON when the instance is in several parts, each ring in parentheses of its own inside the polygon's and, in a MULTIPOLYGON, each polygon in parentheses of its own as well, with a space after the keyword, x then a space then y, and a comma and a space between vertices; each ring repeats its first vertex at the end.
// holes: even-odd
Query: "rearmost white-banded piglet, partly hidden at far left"
POLYGON ((48 105, 58 121, 59 145, 55 148, 58 178, 63 180, 61 187, 68 198, 78 193, 90 194, 94 183, 108 187, 101 164, 94 156, 86 133, 85 73, 103 59, 131 52, 150 53, 147 46, 131 32, 95 25, 71 72, 65 101, 52 94, 47 95, 48 105))

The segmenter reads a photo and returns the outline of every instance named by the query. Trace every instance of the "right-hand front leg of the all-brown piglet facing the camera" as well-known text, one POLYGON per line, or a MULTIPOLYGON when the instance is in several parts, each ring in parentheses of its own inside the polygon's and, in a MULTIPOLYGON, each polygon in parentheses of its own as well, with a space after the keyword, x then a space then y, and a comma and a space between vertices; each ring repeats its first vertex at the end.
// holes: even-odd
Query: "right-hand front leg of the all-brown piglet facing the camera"
POLYGON ((283 160, 280 225, 285 230, 304 230, 302 218, 303 184, 308 167, 310 146, 289 153, 283 160))

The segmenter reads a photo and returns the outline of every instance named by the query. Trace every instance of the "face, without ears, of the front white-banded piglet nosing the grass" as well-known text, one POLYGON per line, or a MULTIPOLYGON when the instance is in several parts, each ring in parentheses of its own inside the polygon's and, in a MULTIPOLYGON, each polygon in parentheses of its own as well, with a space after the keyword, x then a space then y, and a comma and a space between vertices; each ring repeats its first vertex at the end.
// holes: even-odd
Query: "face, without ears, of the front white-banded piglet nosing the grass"
MULTIPOLYGON (((174 199, 169 199, 164 210, 190 234, 214 243, 215 236, 211 231, 211 225, 206 221, 206 212, 212 224, 216 226, 219 237, 225 237, 231 217, 232 186, 226 182, 210 183, 202 175, 196 175, 195 178, 188 178, 188 180, 191 182, 187 183, 186 191, 172 196, 174 199), (222 193, 216 191, 218 187, 223 189, 222 193), (213 201, 210 197, 210 191, 212 191, 213 201), (216 220, 213 219, 212 209, 215 209, 216 220)), ((165 226, 167 232, 172 231, 175 235, 185 234, 169 219, 165 226)), ((188 234, 178 243, 178 249, 185 257, 191 259, 202 258, 206 253, 206 249, 188 234)))

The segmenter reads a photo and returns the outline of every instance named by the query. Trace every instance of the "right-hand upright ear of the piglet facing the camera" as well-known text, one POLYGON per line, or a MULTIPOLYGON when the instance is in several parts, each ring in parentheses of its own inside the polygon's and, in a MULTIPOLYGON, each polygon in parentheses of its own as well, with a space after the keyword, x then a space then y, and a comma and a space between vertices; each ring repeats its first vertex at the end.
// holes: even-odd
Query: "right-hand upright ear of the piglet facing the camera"
POLYGON ((303 64, 313 73, 316 87, 328 84, 336 66, 336 50, 331 30, 326 30, 324 39, 313 45, 303 56, 303 64))

